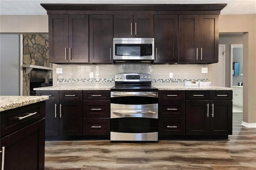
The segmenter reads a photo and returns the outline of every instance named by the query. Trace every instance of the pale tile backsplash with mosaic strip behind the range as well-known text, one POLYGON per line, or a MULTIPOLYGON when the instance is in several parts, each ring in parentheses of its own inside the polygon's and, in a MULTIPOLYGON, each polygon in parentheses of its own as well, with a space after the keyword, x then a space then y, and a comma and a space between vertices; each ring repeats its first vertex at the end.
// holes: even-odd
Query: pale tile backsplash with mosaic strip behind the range
POLYGON ((62 74, 56 74, 56 85, 114 85, 116 73, 148 73, 151 74, 152 85, 184 85, 185 81, 208 81, 209 73, 201 73, 202 67, 208 65, 56 65, 56 68, 62 68, 62 74), (90 73, 93 73, 93 78, 90 78, 90 73), (169 78, 169 73, 173 73, 173 78, 169 78))

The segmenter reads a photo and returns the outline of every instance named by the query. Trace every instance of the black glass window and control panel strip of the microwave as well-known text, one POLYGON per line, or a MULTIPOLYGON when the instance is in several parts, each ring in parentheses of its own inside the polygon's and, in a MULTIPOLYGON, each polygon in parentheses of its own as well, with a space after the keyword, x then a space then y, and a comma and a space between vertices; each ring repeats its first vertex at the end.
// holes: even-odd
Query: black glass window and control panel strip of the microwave
POLYGON ((115 55, 148 56, 152 55, 152 44, 115 44, 115 55))

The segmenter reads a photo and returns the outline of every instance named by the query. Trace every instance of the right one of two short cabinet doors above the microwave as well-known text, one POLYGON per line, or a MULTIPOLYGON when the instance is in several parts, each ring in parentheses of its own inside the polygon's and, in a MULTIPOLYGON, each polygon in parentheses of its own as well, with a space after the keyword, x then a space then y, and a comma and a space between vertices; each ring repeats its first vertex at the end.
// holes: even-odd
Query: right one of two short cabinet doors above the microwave
POLYGON ((134 38, 154 38, 154 16, 134 15, 134 38))

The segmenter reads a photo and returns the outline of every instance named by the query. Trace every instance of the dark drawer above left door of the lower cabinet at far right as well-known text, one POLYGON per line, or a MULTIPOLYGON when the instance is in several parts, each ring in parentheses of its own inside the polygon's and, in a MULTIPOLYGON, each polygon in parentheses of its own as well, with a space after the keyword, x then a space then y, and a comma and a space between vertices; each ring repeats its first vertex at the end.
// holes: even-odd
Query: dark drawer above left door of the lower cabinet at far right
POLYGON ((209 95, 209 91, 206 90, 188 90, 186 100, 209 100, 209 95))

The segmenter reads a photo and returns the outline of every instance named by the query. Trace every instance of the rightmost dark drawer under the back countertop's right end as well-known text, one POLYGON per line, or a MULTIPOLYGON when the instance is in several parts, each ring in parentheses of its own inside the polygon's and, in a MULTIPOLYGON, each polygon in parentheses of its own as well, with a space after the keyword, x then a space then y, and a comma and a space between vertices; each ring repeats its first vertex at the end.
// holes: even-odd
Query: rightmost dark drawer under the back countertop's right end
POLYGON ((210 100, 232 100, 232 90, 210 91, 210 100))

